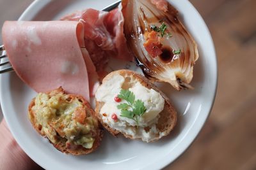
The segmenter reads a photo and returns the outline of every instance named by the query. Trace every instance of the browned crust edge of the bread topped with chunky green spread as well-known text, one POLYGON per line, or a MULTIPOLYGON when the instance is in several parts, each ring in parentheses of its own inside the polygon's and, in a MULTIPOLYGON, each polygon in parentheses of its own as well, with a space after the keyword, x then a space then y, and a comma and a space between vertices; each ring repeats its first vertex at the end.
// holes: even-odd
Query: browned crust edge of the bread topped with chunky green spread
MULTIPOLYGON (((50 93, 54 94, 54 93, 60 93, 60 92, 63 92, 63 94, 66 94, 61 87, 56 90, 52 90, 51 92, 47 92, 47 94, 50 94, 50 93)), ((82 101, 82 103, 84 105, 86 105, 87 106, 86 108, 89 110, 89 111, 86 111, 86 113, 92 113, 91 116, 96 118, 95 111, 91 108, 90 104, 84 99, 84 97, 77 96, 74 94, 68 94, 68 96, 70 98, 74 97, 74 98, 79 99, 79 101, 82 101)), ((32 101, 28 107, 29 120, 30 120, 31 124, 33 125, 34 129, 41 136, 43 136, 44 138, 47 138, 47 136, 44 134, 44 132, 41 131, 42 127, 36 125, 36 118, 35 118, 36 113, 32 110, 33 106, 35 106, 35 98, 32 99, 32 101)), ((93 142, 93 146, 90 149, 84 148, 81 145, 78 145, 76 148, 67 148, 65 141, 60 140, 58 143, 52 143, 48 138, 47 139, 57 150, 60 150, 60 152, 70 153, 72 155, 84 155, 84 154, 88 154, 88 153, 91 153, 94 150, 96 150, 96 148, 98 148, 100 145, 100 141, 102 140, 102 137, 103 137, 103 129, 102 129, 102 126, 99 124, 99 128, 97 129, 97 135, 96 135, 95 141, 93 142)), ((61 137, 56 136, 56 138, 61 138, 61 137)))

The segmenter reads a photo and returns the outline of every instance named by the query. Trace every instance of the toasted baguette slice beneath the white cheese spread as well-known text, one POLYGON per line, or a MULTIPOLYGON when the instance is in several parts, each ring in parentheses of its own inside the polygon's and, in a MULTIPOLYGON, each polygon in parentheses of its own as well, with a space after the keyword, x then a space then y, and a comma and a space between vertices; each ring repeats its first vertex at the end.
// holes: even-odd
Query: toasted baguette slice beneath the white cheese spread
MULTIPOLYGON (((160 117, 158 119, 158 122, 156 123, 156 128, 159 131, 159 133, 156 134, 156 136, 153 136, 152 139, 147 139, 147 142, 157 141, 158 139, 162 138, 163 136, 170 134, 170 132, 173 130, 173 127, 175 127, 175 124, 177 122, 177 112, 175 111, 175 108, 171 104, 168 97, 166 97, 166 95, 163 92, 161 92, 159 89, 157 89, 157 87, 154 84, 152 84, 147 78, 145 78, 141 74, 138 74, 134 71, 125 70, 125 69, 113 71, 112 73, 109 73, 102 80, 102 85, 104 85, 104 83, 106 83, 108 81, 112 81, 112 78, 115 74, 120 74, 121 76, 123 76, 125 78, 124 84, 122 85, 122 87, 124 87, 124 89, 128 89, 128 88, 132 87, 132 84, 139 81, 141 83, 141 85, 143 85, 144 87, 147 87, 147 89, 154 89, 154 90, 156 90, 156 92, 159 92, 164 99, 164 109, 163 109, 163 111, 161 111, 161 113, 159 113, 160 117)), ((96 94, 97 94, 97 92, 96 92, 96 94)), ((100 109, 102 108, 102 106, 104 106, 104 103, 99 102, 96 99, 95 111, 96 111, 97 117, 99 118, 99 121, 101 122, 101 124, 111 134, 113 134, 113 136, 117 136, 118 134, 123 134, 126 138, 129 138, 129 139, 142 139, 143 140, 143 138, 138 138, 138 136, 132 136, 131 134, 127 134, 125 132, 118 131, 118 130, 110 127, 108 124, 106 124, 106 122, 104 122, 102 119, 102 114, 100 113, 100 109)), ((131 127, 133 131, 136 131, 136 126, 131 126, 131 125, 128 125, 128 126, 131 127)), ((148 131, 148 129, 150 129, 150 128, 151 127, 144 127, 144 130, 148 131)), ((143 141, 145 141, 145 140, 143 140, 143 141)))

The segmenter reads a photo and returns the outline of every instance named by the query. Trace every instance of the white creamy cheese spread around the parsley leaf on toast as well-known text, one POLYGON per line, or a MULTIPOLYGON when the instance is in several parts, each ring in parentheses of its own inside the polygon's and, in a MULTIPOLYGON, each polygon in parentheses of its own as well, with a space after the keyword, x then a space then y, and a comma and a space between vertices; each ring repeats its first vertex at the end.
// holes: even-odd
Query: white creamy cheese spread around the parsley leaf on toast
POLYGON ((134 81, 132 86, 128 89, 134 93, 135 99, 140 99, 147 109, 140 117, 137 123, 131 118, 121 117, 121 110, 117 108, 119 104, 125 103, 124 100, 120 102, 115 101, 115 97, 120 94, 122 86, 125 83, 125 78, 119 74, 114 74, 111 80, 104 81, 97 89, 95 97, 97 101, 103 102, 104 105, 100 109, 103 121, 109 127, 125 134, 131 135, 133 138, 141 138, 143 141, 151 141, 156 134, 159 134, 156 124, 159 118, 159 113, 163 111, 164 99, 154 89, 148 89, 141 85, 139 81, 134 81), (116 114, 118 120, 115 121, 112 115, 116 114), (145 127, 150 127, 145 131, 145 127))

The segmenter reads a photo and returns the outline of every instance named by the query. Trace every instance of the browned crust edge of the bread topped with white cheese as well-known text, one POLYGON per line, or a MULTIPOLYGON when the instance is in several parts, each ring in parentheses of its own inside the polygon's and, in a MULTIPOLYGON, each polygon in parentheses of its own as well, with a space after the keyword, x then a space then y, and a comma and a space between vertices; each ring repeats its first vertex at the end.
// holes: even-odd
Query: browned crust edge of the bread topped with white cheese
MULTIPOLYGON (((136 73, 135 71, 131 71, 131 70, 127 70, 127 69, 121 69, 121 70, 113 71, 113 72, 109 73, 102 80, 102 84, 105 81, 111 80, 111 78, 113 77, 114 74, 120 74, 121 76, 124 76, 124 77, 129 76, 131 78, 135 78, 144 87, 147 87, 148 89, 154 89, 154 90, 156 90, 156 92, 159 92, 161 94, 161 96, 164 98, 164 109, 163 109, 163 111, 161 111, 161 113, 159 113, 160 117, 156 124, 156 127, 157 127, 157 129, 159 129, 159 132, 162 132, 164 134, 163 136, 167 136, 168 134, 170 134, 170 132, 173 130, 173 128, 175 127, 175 125, 177 123, 177 111, 175 110, 172 103, 170 102, 170 99, 168 99, 168 97, 163 92, 161 92, 161 90, 157 89, 156 85, 151 83, 150 80, 148 80, 141 74, 136 73)), ((129 138, 129 139, 141 139, 141 138, 134 138, 133 136, 127 135, 124 132, 117 131, 116 129, 109 127, 108 124, 103 122, 102 115, 100 114, 100 109, 102 108, 103 105, 104 105, 104 103, 96 100, 95 112, 96 112, 96 115, 97 115, 100 123, 103 125, 103 127, 107 131, 109 131, 113 136, 117 136, 118 134, 123 134, 126 138, 129 138)), ((159 138, 156 138, 150 142, 157 141, 160 138, 162 138, 163 136, 159 136, 159 138)))

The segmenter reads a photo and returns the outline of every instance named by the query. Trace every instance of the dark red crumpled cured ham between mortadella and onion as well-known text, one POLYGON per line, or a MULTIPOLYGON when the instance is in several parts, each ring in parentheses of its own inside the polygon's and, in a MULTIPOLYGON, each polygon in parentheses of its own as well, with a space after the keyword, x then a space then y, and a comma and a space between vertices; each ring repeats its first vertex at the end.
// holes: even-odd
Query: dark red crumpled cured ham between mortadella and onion
POLYGON ((67 15, 61 20, 80 20, 84 24, 84 46, 97 72, 104 69, 109 57, 133 60, 124 36, 121 6, 110 12, 87 9, 67 15))

